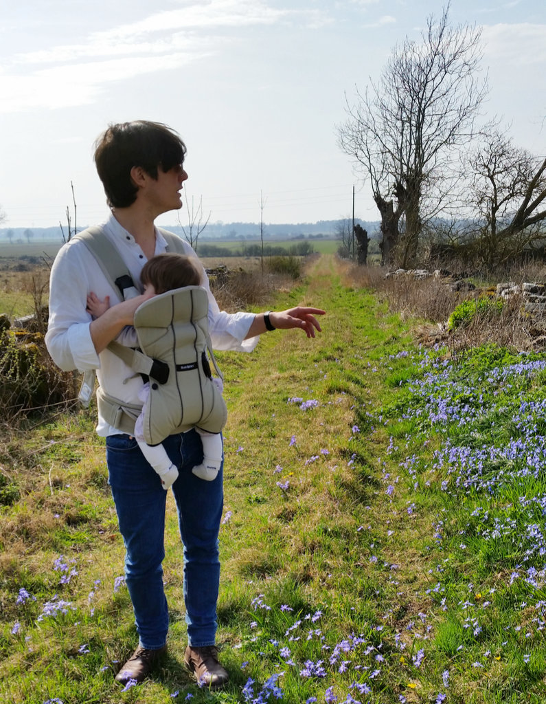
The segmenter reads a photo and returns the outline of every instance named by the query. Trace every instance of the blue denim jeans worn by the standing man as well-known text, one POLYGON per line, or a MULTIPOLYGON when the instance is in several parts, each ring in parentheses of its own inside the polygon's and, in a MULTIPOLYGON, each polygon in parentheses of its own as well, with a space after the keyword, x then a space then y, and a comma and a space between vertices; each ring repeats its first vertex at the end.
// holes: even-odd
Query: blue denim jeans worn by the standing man
MULTIPOLYGON (((163 446, 179 477, 172 485, 184 543, 184 602, 191 646, 212 646, 220 583, 218 531, 223 507, 223 472, 213 482, 191 473, 203 461, 201 438, 194 430, 168 437, 163 446)), ((161 648, 169 614, 163 590, 165 501, 158 474, 129 435, 106 439, 109 483, 125 543, 125 580, 134 609, 139 642, 161 648)))

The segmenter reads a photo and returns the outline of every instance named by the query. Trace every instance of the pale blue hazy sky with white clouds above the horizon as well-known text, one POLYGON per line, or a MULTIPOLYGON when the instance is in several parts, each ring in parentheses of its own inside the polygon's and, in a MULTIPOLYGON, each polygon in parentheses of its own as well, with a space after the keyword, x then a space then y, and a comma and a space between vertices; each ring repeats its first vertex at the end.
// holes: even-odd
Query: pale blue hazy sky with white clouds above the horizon
MULTIPOLYGON (((108 215, 93 144, 112 122, 164 122, 184 139, 184 184, 211 222, 377 220, 337 144, 345 96, 419 40, 438 0, 3 0, 2 227, 108 215)), ((518 146, 546 153, 545 0, 452 0, 481 27, 482 70, 518 146)), ((185 208, 185 206, 184 206, 185 208)), ((167 213, 159 225, 187 223, 167 213)))

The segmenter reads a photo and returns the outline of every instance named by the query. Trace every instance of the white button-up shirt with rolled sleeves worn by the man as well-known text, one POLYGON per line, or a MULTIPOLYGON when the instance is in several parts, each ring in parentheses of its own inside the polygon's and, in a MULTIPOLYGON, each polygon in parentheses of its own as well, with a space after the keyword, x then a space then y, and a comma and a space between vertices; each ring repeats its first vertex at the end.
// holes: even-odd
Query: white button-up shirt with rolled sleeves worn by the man
MULTIPOLYGON (((146 256, 136 244, 132 234, 110 215, 101 225, 104 234, 120 251, 134 285, 140 291, 140 272, 146 256)), ((195 251, 184 242, 188 256, 196 258, 203 272, 202 286, 208 294, 208 323, 212 346, 217 350, 239 350, 250 352, 258 344, 259 337, 245 339, 255 316, 254 313, 226 313, 220 310, 210 291, 208 276, 195 251)), ((155 254, 165 252, 167 242, 155 230, 155 254)), ((59 250, 51 268, 49 290, 49 324, 46 332, 46 347, 53 361, 64 371, 77 369, 84 372, 97 370, 97 379, 107 394, 125 403, 139 404, 142 379, 134 376, 130 367, 108 349, 97 355, 89 325, 91 315, 87 313, 87 296, 94 291, 102 301, 110 296, 110 305, 118 303, 119 291, 113 289, 103 274, 93 254, 82 241, 70 240, 59 250)), ((97 433, 103 437, 119 433, 108 425, 99 414, 97 433)))

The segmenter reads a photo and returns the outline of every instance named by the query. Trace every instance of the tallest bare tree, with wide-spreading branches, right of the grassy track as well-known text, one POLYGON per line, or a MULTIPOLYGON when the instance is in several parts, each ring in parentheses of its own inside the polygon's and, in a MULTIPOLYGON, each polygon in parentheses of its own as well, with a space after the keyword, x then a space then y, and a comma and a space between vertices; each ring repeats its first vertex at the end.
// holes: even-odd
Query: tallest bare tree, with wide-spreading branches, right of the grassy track
POLYGON ((449 201, 459 148, 474 137, 488 93, 487 79, 476 78, 481 31, 452 27, 449 8, 438 22, 427 18, 421 42, 406 37, 395 46, 379 81, 357 89, 338 126, 338 144, 369 180, 381 213, 383 263, 414 263, 421 228, 449 201))

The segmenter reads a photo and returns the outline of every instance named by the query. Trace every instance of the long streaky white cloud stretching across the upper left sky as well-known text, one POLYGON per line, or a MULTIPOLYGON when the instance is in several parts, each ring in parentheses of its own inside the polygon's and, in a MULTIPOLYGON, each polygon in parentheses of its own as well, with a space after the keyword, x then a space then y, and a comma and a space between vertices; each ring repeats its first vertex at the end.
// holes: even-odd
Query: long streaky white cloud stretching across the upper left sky
POLYGON ((86 105, 113 80, 178 68, 222 51, 233 42, 234 30, 282 21, 319 27, 329 18, 321 11, 274 8, 262 0, 191 0, 93 32, 78 44, 21 52, 0 66, 0 113, 86 105))

